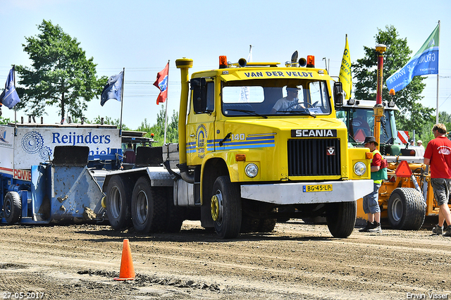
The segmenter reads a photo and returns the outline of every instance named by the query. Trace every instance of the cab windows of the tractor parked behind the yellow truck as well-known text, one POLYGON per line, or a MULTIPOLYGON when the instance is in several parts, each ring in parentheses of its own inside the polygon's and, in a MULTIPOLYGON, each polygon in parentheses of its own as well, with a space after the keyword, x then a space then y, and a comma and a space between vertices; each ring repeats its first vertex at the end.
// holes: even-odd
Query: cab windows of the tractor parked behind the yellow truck
MULTIPOLYGON (((349 142, 362 143, 367 136, 374 136, 374 113, 372 108, 342 108, 337 111, 349 131, 349 142)), ((381 144, 393 144, 395 135, 393 111, 385 110, 381 118, 381 144)))

